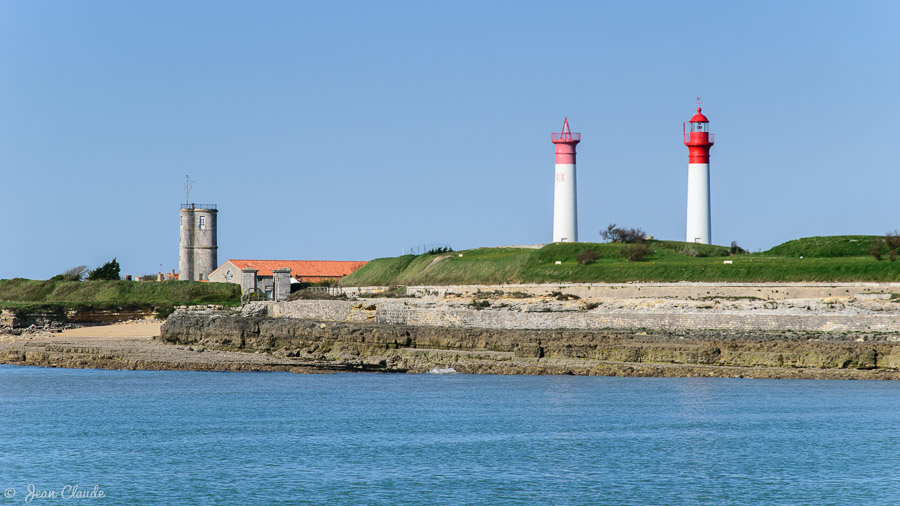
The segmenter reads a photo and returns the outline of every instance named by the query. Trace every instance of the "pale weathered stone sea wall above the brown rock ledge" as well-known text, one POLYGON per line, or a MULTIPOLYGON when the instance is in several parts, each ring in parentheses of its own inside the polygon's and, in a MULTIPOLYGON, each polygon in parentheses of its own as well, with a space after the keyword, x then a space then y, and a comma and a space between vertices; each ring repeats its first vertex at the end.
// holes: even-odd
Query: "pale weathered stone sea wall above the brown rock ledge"
MULTIPOLYGON (((490 329, 717 329, 766 332, 878 332, 900 336, 900 315, 783 314, 777 311, 679 311, 642 313, 460 309, 402 299, 292 301, 270 306, 269 315, 324 321, 375 321, 393 325, 490 329)), ((900 337, 897 337, 900 339, 900 337)))

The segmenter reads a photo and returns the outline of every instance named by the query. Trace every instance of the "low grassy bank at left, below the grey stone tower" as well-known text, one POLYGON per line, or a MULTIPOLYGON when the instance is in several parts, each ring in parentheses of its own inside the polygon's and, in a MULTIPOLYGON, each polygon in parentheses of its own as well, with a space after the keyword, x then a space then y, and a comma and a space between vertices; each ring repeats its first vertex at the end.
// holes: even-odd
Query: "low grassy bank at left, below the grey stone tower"
POLYGON ((151 310, 161 316, 184 304, 240 303, 240 286, 193 281, 0 280, 0 309, 64 314, 68 310, 151 310))

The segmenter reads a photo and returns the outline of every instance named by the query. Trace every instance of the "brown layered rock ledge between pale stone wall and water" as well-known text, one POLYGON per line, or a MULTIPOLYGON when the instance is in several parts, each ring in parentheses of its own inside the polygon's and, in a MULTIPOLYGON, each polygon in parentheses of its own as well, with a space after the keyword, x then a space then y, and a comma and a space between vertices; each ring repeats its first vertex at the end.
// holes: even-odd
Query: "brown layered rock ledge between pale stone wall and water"
POLYGON ((900 379, 896 334, 878 332, 486 329, 177 312, 159 339, 328 370, 900 379))

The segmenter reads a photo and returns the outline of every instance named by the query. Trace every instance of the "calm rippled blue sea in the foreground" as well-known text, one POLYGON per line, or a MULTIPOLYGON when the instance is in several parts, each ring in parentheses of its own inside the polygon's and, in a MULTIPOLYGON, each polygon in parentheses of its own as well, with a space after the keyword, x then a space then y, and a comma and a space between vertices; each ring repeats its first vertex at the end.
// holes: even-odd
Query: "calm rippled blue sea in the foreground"
POLYGON ((900 383, 0 366, 0 445, 0 504, 897 504, 900 383))

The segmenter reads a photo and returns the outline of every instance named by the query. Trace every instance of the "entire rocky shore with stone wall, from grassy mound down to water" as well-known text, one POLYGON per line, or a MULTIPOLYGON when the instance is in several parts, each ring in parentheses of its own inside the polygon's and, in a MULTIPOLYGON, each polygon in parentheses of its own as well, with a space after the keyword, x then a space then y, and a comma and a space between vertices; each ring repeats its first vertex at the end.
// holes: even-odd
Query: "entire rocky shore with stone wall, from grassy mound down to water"
POLYGON ((572 296, 560 288, 179 310, 140 335, 124 335, 128 327, 117 325, 103 335, 84 328, 0 337, 0 363, 298 373, 900 379, 900 302, 884 287, 861 285, 856 293, 840 287, 843 297, 811 293, 828 287, 792 286, 791 292, 769 287, 765 298, 755 286, 742 287, 737 295, 713 288, 710 296, 703 286, 687 287, 696 292, 692 296, 685 296, 680 285, 616 288, 631 290, 620 298, 572 296), (639 289, 644 293, 638 295, 639 289), (806 291, 802 298, 788 298, 798 290, 806 291))

